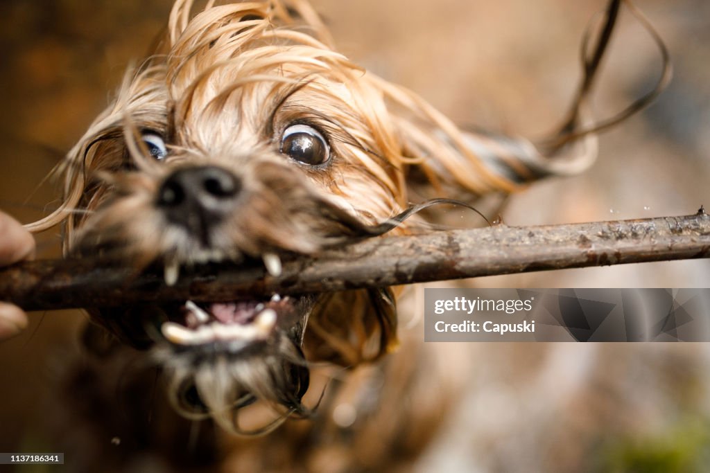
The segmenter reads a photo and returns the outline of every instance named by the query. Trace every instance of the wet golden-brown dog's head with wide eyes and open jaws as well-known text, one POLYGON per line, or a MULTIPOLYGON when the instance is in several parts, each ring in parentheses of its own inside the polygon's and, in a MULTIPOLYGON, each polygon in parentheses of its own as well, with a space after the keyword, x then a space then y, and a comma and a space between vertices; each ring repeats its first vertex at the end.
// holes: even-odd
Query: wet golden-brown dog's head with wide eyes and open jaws
MULTIPOLYGON (((168 284, 212 262, 278 272, 283 255, 363 238, 428 191, 476 196, 512 189, 515 166, 535 175, 486 161, 515 143, 485 143, 333 50, 305 1, 178 0, 163 45, 70 152, 55 216, 67 251, 159 265, 168 284)), ((389 290, 92 316, 153 350, 181 411, 232 429, 256 399, 305 413, 305 360, 356 365, 396 337, 389 290)))

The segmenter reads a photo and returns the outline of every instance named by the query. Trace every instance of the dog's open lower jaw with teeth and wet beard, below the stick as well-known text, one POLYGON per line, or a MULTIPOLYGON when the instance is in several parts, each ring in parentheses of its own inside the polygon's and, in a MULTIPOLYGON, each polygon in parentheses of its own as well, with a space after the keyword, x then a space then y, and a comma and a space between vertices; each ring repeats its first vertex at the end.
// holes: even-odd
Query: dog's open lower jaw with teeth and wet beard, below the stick
POLYGON ((314 299, 274 296, 202 307, 188 301, 182 306, 110 308, 91 315, 123 343, 147 350, 167 377, 168 399, 182 416, 213 418, 231 433, 263 433, 287 416, 310 413, 301 403, 309 385, 302 340, 314 299), (195 312, 202 320, 194 320, 195 312), (171 340, 166 327, 182 330, 185 338, 171 340), (200 340, 205 332, 214 337, 200 340), (257 401, 275 416, 273 422, 247 431, 239 425, 239 410, 257 401))

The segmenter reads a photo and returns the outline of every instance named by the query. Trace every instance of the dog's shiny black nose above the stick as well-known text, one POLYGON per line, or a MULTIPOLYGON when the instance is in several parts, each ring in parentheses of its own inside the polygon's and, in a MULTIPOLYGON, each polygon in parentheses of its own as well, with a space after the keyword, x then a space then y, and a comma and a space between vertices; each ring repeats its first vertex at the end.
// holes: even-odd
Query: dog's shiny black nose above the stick
POLYGON ((222 167, 187 167, 165 179, 157 204, 169 221, 209 240, 209 229, 233 210, 240 190, 239 179, 222 167))

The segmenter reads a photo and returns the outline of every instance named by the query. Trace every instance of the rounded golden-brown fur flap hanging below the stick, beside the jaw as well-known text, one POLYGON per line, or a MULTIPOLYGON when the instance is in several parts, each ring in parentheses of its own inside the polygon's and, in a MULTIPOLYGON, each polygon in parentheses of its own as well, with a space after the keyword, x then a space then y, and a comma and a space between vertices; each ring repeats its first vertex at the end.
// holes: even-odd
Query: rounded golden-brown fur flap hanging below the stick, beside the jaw
POLYGON ((398 346, 391 289, 358 289, 322 296, 305 333, 308 360, 344 367, 377 360, 398 346))

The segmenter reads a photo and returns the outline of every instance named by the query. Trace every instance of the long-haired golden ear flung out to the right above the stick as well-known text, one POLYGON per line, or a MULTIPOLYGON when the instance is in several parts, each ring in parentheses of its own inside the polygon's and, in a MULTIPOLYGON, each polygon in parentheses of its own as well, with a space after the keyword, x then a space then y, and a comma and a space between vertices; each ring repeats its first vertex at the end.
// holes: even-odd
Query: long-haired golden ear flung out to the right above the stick
POLYGON ((377 77, 405 163, 409 201, 471 201, 551 175, 577 174, 596 158, 596 135, 545 151, 522 137, 461 130, 412 91, 377 77))

